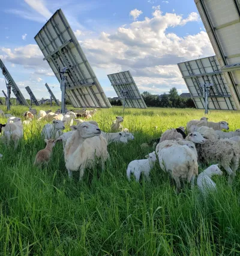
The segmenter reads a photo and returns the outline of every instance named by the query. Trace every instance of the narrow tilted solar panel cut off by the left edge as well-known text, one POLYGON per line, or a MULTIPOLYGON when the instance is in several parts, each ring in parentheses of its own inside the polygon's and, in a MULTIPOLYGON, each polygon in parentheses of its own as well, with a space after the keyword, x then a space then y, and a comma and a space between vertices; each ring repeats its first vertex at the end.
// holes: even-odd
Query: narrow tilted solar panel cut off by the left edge
POLYGON ((17 84, 14 82, 13 78, 11 77, 10 73, 7 70, 7 67, 5 67, 1 59, 0 59, 0 67, 2 69, 2 74, 5 76, 5 79, 8 81, 8 84, 10 84, 11 89, 13 90, 13 93, 16 96, 19 104, 28 106, 28 102, 23 97, 22 93, 19 90, 19 87, 17 87, 17 84))

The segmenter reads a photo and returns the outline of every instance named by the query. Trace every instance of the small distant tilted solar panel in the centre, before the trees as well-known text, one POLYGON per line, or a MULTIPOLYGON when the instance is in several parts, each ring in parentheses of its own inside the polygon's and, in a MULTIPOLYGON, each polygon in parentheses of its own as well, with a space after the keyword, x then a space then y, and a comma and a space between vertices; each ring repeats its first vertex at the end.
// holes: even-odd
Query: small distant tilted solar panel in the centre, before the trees
POLYGON ((122 105, 125 104, 127 108, 146 108, 142 95, 129 71, 113 73, 107 76, 122 105))

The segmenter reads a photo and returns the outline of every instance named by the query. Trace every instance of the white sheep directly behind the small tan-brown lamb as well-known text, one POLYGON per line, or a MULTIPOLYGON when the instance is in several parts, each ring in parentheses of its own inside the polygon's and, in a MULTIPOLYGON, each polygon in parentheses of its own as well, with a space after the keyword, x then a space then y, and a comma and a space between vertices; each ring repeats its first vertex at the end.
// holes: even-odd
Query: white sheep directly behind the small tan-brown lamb
POLYGON ((43 126, 43 130, 41 131, 41 136, 44 139, 57 139, 62 135, 62 130, 65 129, 64 121, 61 120, 53 120, 52 123, 47 123, 43 126))

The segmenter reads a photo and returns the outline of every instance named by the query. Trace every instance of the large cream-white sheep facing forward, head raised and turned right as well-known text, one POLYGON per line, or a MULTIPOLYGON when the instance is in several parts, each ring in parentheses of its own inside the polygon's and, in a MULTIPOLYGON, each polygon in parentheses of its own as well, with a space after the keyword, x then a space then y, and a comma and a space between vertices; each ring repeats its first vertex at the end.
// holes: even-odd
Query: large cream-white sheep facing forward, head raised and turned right
POLYGON ((107 152, 107 141, 101 135, 101 130, 91 123, 84 122, 77 126, 67 140, 64 148, 65 166, 68 170, 69 178, 72 178, 73 171, 80 170, 79 181, 82 180, 84 170, 91 168, 95 163, 95 158, 100 158, 101 167, 109 158, 107 152))

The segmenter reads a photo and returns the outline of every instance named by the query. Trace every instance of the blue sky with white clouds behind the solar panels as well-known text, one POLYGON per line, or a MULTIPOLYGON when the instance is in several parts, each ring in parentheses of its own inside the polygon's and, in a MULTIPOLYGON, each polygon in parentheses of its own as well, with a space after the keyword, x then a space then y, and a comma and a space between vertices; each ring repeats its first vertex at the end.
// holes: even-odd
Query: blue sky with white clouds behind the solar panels
MULTIPOLYGON (((0 58, 23 95, 58 99, 58 80, 34 36, 61 8, 108 97, 107 74, 130 70, 140 92, 188 92, 176 63, 214 55, 194 0, 8 0, 1 2, 0 58)), ((0 74, 0 92, 5 90, 0 74)), ((0 93, 1 96, 2 93, 0 93)))

